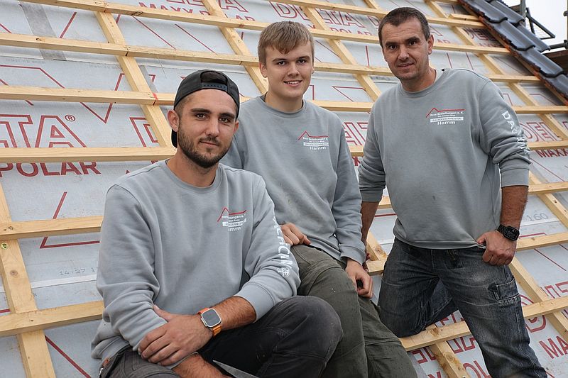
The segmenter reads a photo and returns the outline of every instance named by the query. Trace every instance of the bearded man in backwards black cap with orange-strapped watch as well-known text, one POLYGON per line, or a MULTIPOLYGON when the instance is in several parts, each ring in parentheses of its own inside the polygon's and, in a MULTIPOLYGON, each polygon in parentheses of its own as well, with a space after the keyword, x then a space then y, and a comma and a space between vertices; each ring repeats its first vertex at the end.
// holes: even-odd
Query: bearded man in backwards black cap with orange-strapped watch
POLYGON ((183 79, 168 111, 170 160, 107 193, 92 355, 101 377, 318 377, 341 337, 324 301, 294 296, 297 265, 263 179, 219 165, 239 127, 220 72, 183 79), (290 298, 291 297, 291 298, 290 298))

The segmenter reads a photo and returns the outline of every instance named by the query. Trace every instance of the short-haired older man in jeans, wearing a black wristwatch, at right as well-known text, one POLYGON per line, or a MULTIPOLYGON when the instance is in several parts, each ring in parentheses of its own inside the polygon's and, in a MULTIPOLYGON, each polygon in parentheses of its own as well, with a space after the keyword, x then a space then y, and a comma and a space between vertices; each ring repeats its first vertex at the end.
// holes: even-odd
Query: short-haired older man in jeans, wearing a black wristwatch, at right
POLYGON ((400 79, 373 106, 359 167, 364 240, 384 187, 397 214, 381 320, 402 337, 459 309, 491 376, 546 377, 507 267, 530 164, 517 117, 485 77, 430 67, 420 11, 391 11, 378 37, 400 79))

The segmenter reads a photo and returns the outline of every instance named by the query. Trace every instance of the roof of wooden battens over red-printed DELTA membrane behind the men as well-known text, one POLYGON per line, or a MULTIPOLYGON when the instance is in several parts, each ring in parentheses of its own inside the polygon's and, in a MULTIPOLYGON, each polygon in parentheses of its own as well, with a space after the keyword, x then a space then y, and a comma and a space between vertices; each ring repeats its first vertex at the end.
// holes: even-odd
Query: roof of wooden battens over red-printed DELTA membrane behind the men
MULTIPOLYGON (((291 20, 312 27, 317 67, 305 99, 339 101, 318 104, 333 106, 344 122, 356 166, 371 102, 397 84, 374 36, 376 16, 398 6, 414 6, 430 17, 437 45, 430 55, 433 67, 486 74, 517 107, 533 149, 531 190, 542 190, 539 182, 557 183, 549 192, 530 195, 519 243, 524 250, 518 252, 514 270, 525 311, 532 311, 526 319, 532 348, 550 377, 568 377, 568 312, 562 310, 568 304, 559 299, 568 296, 568 252, 562 244, 568 243, 568 203, 559 191, 568 181, 568 145, 563 144, 568 138, 567 106, 457 1, 333 1, 346 5, 336 10, 329 9, 330 3, 305 0, 66 0, 46 5, 53 3, 0 0, 0 184, 7 204, 0 195, 0 377, 97 375, 99 361, 90 357, 98 323, 92 319, 100 317, 102 308, 94 284, 100 225, 96 216, 102 215, 105 192, 118 177, 173 152, 162 113, 171 106, 182 77, 203 68, 222 70, 242 96, 258 96, 266 84, 255 81, 255 71, 245 67, 253 67, 258 25, 291 20), (315 6, 320 9, 312 11, 315 6), (97 14, 105 9, 106 15, 97 14), (207 16, 222 16, 219 12, 226 15, 225 21, 207 16), (167 17, 158 19, 160 14, 167 17), (105 23, 116 23, 107 34, 105 23), (339 35, 339 42, 324 38, 329 35, 339 35), (91 47, 80 48, 87 43, 77 40, 90 41, 91 47), (94 42, 101 44, 99 49, 93 48, 94 42), (164 49, 188 57, 172 60, 164 49), (116 55, 126 55, 126 50, 129 57, 120 58, 122 68, 116 55), (215 54, 218 60, 212 59, 215 54), (239 56, 231 61, 227 55, 239 56), (359 74, 346 65, 358 67, 359 74), (361 71, 364 68, 368 71, 361 71), (136 75, 144 79, 137 88, 129 84, 136 82, 129 76, 136 75), (104 91, 116 91, 116 98, 104 91), (552 114, 537 114, 541 108, 552 114), (133 157, 121 157, 113 149, 125 147, 136 148, 129 150, 133 157), (19 148, 29 150, 18 153, 19 148), (67 151, 81 154, 85 148, 87 157, 70 157, 72 162, 60 157, 67 151), (138 153, 146 161, 138 161, 138 153)), ((394 221, 395 214, 385 206, 371 229, 387 253, 394 221)), ((380 266, 384 255, 378 257, 380 266)), ((375 277, 378 284, 380 278, 375 277)), ((440 332, 431 330, 403 340, 421 377, 488 377, 479 345, 459 321, 461 316, 454 313, 437 323, 444 332, 459 336, 451 340, 441 340, 440 332)))

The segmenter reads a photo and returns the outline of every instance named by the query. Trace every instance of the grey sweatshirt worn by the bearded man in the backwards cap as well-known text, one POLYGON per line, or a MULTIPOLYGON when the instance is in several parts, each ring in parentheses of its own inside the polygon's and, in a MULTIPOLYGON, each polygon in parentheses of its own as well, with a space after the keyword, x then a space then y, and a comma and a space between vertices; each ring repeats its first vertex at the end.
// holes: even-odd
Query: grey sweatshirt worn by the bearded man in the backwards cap
POLYGON ((153 304, 190 314, 241 296, 258 319, 299 284, 261 177, 219 165, 213 184, 198 188, 156 162, 107 193, 97 273, 104 312, 92 357, 136 350, 166 323, 153 304))

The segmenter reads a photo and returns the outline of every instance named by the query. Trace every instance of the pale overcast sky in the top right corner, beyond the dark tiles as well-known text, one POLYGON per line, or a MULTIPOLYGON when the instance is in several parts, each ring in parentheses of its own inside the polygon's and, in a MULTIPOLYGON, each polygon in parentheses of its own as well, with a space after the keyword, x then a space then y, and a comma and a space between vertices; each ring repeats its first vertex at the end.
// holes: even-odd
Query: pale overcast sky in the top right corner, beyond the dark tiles
MULTIPOLYGON (((505 0, 505 3, 513 6, 520 4, 520 0, 505 0)), ((554 45, 567 39, 567 21, 562 13, 568 9, 568 0, 526 0, 526 4, 531 16, 556 35, 554 40, 545 40, 545 43, 554 45)))

